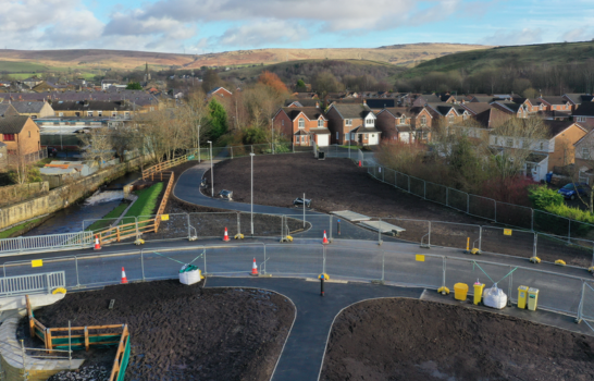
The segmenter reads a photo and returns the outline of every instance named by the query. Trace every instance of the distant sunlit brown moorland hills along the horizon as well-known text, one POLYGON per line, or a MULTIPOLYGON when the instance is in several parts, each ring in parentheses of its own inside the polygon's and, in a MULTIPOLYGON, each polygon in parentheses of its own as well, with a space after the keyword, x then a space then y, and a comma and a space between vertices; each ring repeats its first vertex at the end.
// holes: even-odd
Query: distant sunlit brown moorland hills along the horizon
POLYGON ((460 51, 484 49, 480 45, 412 44, 371 49, 258 49, 211 54, 176 54, 126 50, 0 50, 0 73, 44 71, 92 72, 106 69, 134 70, 148 62, 152 69, 198 69, 272 64, 309 59, 364 59, 395 65, 412 65, 460 51))

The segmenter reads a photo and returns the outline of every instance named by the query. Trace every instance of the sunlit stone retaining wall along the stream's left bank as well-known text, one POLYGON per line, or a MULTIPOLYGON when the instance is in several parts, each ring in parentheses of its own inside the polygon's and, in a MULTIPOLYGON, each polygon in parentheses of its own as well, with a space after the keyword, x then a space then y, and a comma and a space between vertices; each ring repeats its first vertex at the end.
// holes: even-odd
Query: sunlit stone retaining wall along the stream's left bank
POLYGON ((44 196, 2 207, 0 208, 0 229, 60 210, 92 194, 106 182, 138 169, 144 160, 145 158, 136 158, 74 181, 72 184, 51 189, 44 196))

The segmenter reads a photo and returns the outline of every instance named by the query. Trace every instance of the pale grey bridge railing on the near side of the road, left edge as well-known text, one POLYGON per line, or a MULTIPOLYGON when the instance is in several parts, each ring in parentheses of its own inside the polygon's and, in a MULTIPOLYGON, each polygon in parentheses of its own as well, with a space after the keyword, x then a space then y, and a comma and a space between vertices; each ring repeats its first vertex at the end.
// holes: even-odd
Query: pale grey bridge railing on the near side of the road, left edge
POLYGON ((65 287, 64 271, 0 278, 0 297, 50 293, 65 287))

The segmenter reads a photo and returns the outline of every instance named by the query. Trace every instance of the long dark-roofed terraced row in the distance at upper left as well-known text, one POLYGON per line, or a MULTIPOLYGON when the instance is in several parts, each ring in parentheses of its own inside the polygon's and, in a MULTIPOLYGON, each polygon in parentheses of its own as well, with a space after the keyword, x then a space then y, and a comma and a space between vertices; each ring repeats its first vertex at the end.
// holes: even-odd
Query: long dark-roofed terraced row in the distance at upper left
MULTIPOLYGON (((128 101, 58 101, 53 103, 54 116, 64 118, 123 118, 132 119, 140 108, 128 101)), ((146 110, 143 110, 146 112, 146 110)), ((53 115, 52 115, 53 116, 53 115)))

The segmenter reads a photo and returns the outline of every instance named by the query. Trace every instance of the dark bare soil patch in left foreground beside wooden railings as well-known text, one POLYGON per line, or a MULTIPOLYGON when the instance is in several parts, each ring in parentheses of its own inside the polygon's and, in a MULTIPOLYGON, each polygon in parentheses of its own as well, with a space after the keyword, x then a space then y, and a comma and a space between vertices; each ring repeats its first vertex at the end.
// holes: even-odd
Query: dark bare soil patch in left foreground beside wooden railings
POLYGON ((69 293, 35 316, 46 327, 67 327, 69 320, 77 327, 127 323, 132 353, 126 380, 269 380, 295 309, 268 291, 159 281, 69 293), (108 309, 111 299, 115 305, 108 309))

